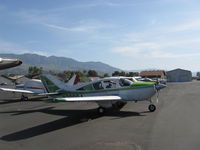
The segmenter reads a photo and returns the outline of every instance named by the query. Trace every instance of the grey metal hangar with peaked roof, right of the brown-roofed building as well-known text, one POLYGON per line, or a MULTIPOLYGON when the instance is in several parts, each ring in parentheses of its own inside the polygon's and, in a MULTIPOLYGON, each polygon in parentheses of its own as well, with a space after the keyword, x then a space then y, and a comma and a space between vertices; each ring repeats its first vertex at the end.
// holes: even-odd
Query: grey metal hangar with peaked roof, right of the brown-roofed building
POLYGON ((175 69, 167 72, 168 82, 190 82, 192 81, 192 72, 183 69, 175 69))

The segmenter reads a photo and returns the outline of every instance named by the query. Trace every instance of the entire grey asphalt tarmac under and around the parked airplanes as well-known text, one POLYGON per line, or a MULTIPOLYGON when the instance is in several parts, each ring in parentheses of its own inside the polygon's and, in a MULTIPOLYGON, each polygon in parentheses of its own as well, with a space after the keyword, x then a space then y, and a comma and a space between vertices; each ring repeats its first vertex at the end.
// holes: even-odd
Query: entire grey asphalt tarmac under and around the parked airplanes
POLYGON ((169 83, 153 113, 148 102, 101 116, 95 103, 25 102, 2 92, 0 97, 2 150, 200 149, 198 81, 169 83))

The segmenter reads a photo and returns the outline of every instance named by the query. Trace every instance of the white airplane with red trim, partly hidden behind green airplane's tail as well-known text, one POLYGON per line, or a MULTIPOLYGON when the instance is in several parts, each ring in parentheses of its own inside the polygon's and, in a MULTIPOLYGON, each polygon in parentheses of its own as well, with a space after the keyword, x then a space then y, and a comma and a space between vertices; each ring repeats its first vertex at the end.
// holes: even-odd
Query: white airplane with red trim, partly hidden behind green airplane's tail
MULTIPOLYGON (((77 78, 74 75, 65 86, 69 87, 76 84, 77 78)), ((25 84, 16 85, 15 89, 12 88, 1 88, 1 91, 5 92, 13 92, 13 93, 21 93, 21 100, 28 100, 28 94, 38 95, 38 96, 50 96, 55 95, 56 93, 47 93, 45 87, 43 86, 41 80, 38 79, 30 79, 25 84)))

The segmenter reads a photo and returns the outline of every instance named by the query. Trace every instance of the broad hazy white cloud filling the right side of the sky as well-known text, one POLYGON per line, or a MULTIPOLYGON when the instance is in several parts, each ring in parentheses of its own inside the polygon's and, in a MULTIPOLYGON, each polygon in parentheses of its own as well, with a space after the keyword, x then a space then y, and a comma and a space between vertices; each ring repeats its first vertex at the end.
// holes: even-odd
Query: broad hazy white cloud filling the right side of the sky
MULTIPOLYGON (((156 19, 151 23, 155 24, 156 19)), ((200 21, 185 18, 170 25, 155 25, 143 31, 125 33, 115 41, 112 52, 132 58, 185 58, 200 56, 200 21)))

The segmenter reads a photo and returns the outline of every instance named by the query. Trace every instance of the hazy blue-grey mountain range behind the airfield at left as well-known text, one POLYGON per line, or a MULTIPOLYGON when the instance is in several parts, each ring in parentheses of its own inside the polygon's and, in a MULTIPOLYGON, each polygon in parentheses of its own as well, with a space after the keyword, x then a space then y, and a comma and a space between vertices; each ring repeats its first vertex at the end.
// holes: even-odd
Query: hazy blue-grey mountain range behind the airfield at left
POLYGON ((102 62, 80 62, 72 58, 56 57, 56 56, 42 56, 38 54, 0 54, 3 58, 19 58, 23 61, 21 66, 2 70, 1 72, 9 73, 28 73, 30 66, 43 67, 44 71, 68 71, 68 70, 96 70, 99 74, 112 74, 114 71, 121 71, 119 68, 112 67, 102 62))

